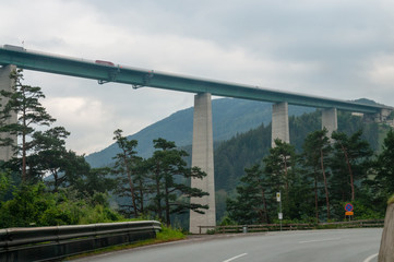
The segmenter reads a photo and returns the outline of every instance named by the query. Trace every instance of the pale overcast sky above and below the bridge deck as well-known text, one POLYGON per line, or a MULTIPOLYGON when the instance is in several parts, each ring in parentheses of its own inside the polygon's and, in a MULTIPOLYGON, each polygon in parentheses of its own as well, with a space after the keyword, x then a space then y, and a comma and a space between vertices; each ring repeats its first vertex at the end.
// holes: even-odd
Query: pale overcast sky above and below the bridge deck
MULTIPOLYGON (((0 45, 394 106, 393 0, 0 0, 0 45)), ((25 71, 71 132, 100 151, 193 106, 193 94, 25 71)))

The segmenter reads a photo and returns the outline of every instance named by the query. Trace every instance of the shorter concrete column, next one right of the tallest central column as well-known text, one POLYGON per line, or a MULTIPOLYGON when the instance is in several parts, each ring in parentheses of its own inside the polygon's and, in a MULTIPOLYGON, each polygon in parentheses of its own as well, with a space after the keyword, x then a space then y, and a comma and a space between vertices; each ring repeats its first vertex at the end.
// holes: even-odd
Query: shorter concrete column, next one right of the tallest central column
POLYGON ((290 143, 288 128, 288 104, 287 102, 276 103, 272 106, 272 136, 271 146, 275 147, 275 140, 290 143))

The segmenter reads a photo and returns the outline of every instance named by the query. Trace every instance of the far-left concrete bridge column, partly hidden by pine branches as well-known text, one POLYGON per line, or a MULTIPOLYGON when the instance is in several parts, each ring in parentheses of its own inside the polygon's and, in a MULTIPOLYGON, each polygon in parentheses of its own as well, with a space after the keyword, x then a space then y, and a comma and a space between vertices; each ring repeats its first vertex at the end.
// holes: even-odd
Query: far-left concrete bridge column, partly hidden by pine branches
MULTIPOLYGON (((11 91, 12 86, 14 85, 14 81, 10 79, 10 73, 12 71, 16 70, 15 66, 5 66, 0 68, 0 90, 1 91, 11 91)), ((2 98, 1 105, 5 105, 8 100, 2 98)), ((2 106, 0 106, 0 109, 2 110, 2 106)), ((9 123, 16 123, 17 116, 16 114, 11 114, 11 117, 5 120, 7 124, 9 123)), ((5 133, 0 133, 0 138, 7 139, 10 138, 16 143, 16 136, 15 135, 9 135, 5 133)), ((0 146, 0 160, 10 160, 13 156, 12 146, 0 146)))

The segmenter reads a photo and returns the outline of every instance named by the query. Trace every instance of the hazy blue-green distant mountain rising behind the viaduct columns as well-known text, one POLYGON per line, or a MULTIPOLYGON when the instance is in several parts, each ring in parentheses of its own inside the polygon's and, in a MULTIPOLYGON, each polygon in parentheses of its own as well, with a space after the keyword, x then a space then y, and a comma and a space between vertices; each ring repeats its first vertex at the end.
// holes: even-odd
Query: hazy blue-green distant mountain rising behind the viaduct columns
MULTIPOLYGON (((289 106, 289 116, 300 116, 314 111, 314 108, 289 106)), ((214 141, 225 141, 236 134, 244 133, 260 124, 268 124, 272 119, 272 104, 220 98, 212 100, 214 141)), ((121 127, 119 127, 121 129, 121 127)), ((187 146, 193 138, 193 107, 177 111, 171 116, 155 122, 140 132, 129 135, 129 140, 138 140, 136 151, 142 157, 150 157, 153 153, 153 140, 163 138, 174 141, 178 146, 187 146)), ((116 143, 100 152, 86 156, 92 167, 111 164, 112 157, 119 152, 116 143)))

